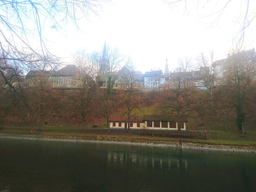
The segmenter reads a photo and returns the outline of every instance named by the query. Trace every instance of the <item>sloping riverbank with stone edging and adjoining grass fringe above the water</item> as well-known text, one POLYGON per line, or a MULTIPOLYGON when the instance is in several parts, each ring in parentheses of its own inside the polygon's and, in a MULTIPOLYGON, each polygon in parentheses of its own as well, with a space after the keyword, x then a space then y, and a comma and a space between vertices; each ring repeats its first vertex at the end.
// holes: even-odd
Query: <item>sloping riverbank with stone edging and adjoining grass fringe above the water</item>
MULTIPOLYGON (((46 135, 33 135, 33 134, 3 134, 0 133, 0 138, 12 138, 12 139, 29 139, 29 140, 42 140, 42 141, 66 141, 66 142, 85 142, 85 143, 108 143, 108 144, 119 144, 119 145, 141 145, 151 147, 179 147, 185 149, 195 150, 217 150, 217 151, 228 151, 228 152, 249 152, 255 153, 255 146, 245 145, 213 145, 198 141, 187 141, 182 139, 182 143, 178 140, 148 140, 147 138, 135 139, 135 138, 121 138, 117 137, 83 137, 83 136, 46 136, 46 135)), ((181 140, 180 140, 181 141, 181 140)))

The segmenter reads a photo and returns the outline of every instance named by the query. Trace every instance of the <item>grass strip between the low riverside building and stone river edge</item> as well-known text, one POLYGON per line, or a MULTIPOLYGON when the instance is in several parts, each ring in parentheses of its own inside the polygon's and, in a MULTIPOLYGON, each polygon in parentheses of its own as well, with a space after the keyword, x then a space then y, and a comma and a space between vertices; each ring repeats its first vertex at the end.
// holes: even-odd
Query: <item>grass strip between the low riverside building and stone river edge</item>
MULTIPOLYGON (((172 132, 170 132, 172 133, 172 132)), ((149 142, 149 143, 177 143, 177 139, 182 138, 184 143, 198 143, 204 145, 228 145, 236 148, 250 147, 256 149, 256 131, 247 131, 245 134, 238 132, 216 131, 208 132, 211 140, 202 140, 195 138, 184 138, 177 134, 169 135, 168 137, 159 134, 152 136, 142 136, 139 130, 126 132, 124 129, 110 130, 102 129, 101 127, 92 128, 85 127, 84 131, 80 127, 24 127, 24 126, 5 126, 0 130, 0 134, 13 135, 33 135, 45 136, 49 138, 79 138, 90 140, 104 141, 129 141, 129 142, 149 142), (32 130, 33 129, 33 132, 32 130)))

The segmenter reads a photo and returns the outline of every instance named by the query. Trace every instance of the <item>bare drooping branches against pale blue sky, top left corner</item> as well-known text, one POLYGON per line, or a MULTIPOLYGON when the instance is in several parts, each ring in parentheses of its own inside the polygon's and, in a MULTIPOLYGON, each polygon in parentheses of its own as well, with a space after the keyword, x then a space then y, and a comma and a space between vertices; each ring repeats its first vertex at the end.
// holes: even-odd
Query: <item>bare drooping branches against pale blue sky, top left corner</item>
MULTIPOLYGON (((14 76, 22 76, 30 70, 39 70, 38 62, 47 64, 47 69, 55 69, 56 60, 47 46, 44 29, 51 27, 64 29, 65 22, 77 24, 80 18, 100 7, 97 0, 2 0, 0 1, 0 75, 5 84, 12 86, 12 78, 5 76, 11 71, 14 76), (35 44, 36 42, 36 44, 35 44), (7 66, 9 65, 9 66, 7 66), (21 71, 18 73, 18 70, 21 71)), ((77 25, 76 25, 77 26, 77 25)), ((41 68, 40 68, 41 70, 41 68)), ((19 81, 20 78, 16 78, 19 81)), ((16 83, 15 88, 19 84, 16 83)))

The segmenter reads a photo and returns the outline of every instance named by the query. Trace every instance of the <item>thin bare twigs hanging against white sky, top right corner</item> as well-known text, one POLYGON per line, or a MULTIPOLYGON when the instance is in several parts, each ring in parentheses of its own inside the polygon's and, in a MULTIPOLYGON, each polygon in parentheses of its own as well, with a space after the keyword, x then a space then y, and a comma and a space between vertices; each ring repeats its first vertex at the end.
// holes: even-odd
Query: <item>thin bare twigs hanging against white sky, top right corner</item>
MULTIPOLYGON (((184 13, 189 13, 191 9, 197 9, 198 14, 202 14, 200 18, 211 18, 211 25, 219 24, 220 20, 223 20, 225 13, 234 14, 232 20, 236 20, 236 25, 239 25, 239 30, 236 33, 234 39, 237 40, 237 47, 239 50, 242 49, 245 33, 249 27, 255 27, 254 23, 256 21, 256 4, 252 0, 197 0, 197 1, 187 1, 187 0, 163 0, 172 9, 175 8, 177 4, 183 4, 184 13), (237 7, 234 11, 234 7, 237 7)), ((230 22, 232 22, 230 20, 230 22)))

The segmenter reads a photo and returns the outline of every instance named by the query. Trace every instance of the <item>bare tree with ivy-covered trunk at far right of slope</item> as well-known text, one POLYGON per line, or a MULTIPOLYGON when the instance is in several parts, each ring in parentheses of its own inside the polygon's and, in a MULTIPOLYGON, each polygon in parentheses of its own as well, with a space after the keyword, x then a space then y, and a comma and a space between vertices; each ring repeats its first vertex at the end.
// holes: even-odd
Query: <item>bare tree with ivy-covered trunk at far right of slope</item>
POLYGON ((252 82, 256 78, 256 56, 248 58, 245 52, 229 56, 223 77, 224 89, 234 96, 232 105, 236 109, 236 125, 241 132, 245 122, 245 102, 251 97, 252 82), (245 59, 247 58, 247 59, 245 59))

